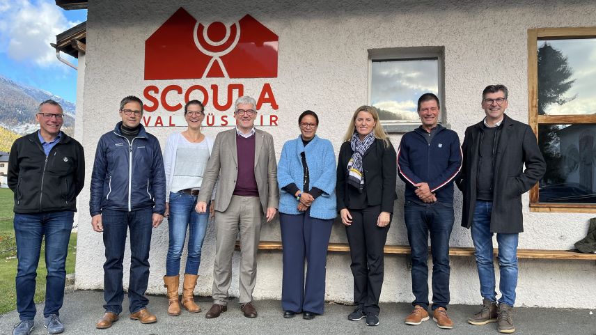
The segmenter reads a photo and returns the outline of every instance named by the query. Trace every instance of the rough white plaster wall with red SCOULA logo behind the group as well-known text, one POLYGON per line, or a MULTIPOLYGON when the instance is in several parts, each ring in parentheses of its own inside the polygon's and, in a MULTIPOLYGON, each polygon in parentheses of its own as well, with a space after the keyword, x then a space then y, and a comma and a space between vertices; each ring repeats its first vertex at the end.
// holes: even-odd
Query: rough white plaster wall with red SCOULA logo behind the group
MULTIPOLYGON (((382 81, 373 82, 375 61, 434 59, 437 79, 432 89, 441 98, 442 122, 463 140, 466 127, 484 116, 481 93, 488 84, 508 86, 508 115, 528 123, 528 29, 591 26, 594 17, 596 5, 587 0, 89 1, 75 137, 86 149, 86 169, 91 171, 97 140, 118 122, 118 103, 126 95, 146 103, 143 124, 163 148, 171 132, 183 129, 174 125, 185 126, 185 99, 207 100, 205 122, 212 126, 204 132, 214 137, 229 129, 233 100, 244 93, 258 100, 258 127, 274 136, 278 158, 283 143, 299 134, 297 117, 306 109, 317 112, 317 134, 334 143, 337 155, 356 107, 375 103, 375 90, 383 88, 382 81), (165 48, 161 52, 159 45, 165 48)), ((420 84, 414 91, 420 95, 428 87, 420 84)), ((393 145, 416 126, 388 123, 393 145)), ((403 191, 398 182, 387 244, 407 245, 403 191)), ((525 232, 520 248, 572 249, 586 235, 593 217, 589 210, 534 212, 528 194, 522 199, 525 232)), ((81 192, 75 285, 101 289, 104 245, 91 228, 88 200, 89 192, 81 192)), ((459 225, 461 202, 456 189, 450 244, 471 247, 469 231, 459 225)), ((167 224, 153 232, 149 293, 166 292, 162 276, 167 224)), ((211 294, 212 224, 203 244, 200 295, 211 294)), ((281 241, 278 219, 264 224, 261 240, 281 241)), ((339 220, 331 242, 346 242, 339 220)), ((237 256, 232 295, 238 294, 237 256)), ((479 304, 473 257, 453 256, 451 262, 451 302, 479 304)), ((521 259, 516 304, 596 308, 595 270, 593 261, 521 259)), ((382 301, 411 302, 410 278, 407 256, 386 255, 382 301)), ((326 299, 351 302, 352 285, 350 256, 330 252, 326 299)), ((281 297, 280 251, 260 252, 255 297, 281 297)))

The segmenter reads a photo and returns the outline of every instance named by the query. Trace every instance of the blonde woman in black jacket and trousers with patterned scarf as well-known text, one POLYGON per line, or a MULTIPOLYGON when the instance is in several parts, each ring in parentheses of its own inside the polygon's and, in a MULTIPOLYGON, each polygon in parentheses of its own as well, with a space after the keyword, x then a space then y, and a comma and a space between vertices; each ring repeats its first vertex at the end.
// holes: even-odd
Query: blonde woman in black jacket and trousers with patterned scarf
POLYGON ((374 107, 354 112, 340 148, 337 167, 337 208, 345 224, 354 275, 352 321, 366 316, 379 325, 383 285, 383 248, 393 215, 397 163, 395 149, 379 123, 374 107))

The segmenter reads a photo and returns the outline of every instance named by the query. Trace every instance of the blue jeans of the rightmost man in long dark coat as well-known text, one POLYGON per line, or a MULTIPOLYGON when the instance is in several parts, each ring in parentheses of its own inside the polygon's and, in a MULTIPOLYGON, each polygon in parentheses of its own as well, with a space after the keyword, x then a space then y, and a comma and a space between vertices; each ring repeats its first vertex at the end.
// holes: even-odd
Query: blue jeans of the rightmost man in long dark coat
MULTIPOLYGON (((476 266, 480 279, 480 295, 483 299, 496 302, 492 234, 490 231, 490 215, 492 201, 476 201, 471 226, 472 241, 476 249, 476 266)), ((499 304, 515 304, 515 288, 517 287, 517 240, 519 234, 496 234, 499 244, 499 304)))

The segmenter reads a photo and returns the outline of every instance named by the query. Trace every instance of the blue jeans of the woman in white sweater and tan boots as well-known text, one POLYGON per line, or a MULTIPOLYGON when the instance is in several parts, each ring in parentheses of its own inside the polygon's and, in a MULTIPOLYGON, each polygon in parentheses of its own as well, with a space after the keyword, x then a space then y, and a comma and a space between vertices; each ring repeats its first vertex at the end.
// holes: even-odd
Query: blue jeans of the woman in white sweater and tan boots
POLYGON ((198 273, 198 266, 201 265, 201 247, 203 247, 203 240, 205 240, 209 212, 199 214, 194 210, 197 198, 198 196, 191 196, 182 192, 170 192, 170 217, 168 218, 170 245, 166 257, 166 276, 180 274, 180 256, 182 256, 182 249, 185 246, 187 228, 189 229, 189 236, 185 273, 198 273))

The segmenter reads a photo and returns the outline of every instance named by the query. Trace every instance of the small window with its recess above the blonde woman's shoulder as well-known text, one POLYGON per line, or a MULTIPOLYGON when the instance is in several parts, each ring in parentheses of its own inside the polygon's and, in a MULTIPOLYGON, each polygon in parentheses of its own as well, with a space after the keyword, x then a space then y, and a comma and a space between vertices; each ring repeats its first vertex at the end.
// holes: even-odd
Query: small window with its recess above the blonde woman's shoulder
POLYGON ((417 102, 434 93, 445 115, 443 47, 370 49, 369 104, 379 111, 388 132, 407 132, 420 124, 417 102))

